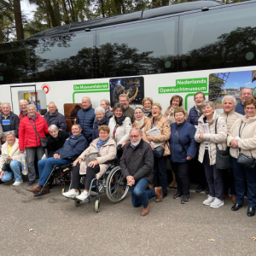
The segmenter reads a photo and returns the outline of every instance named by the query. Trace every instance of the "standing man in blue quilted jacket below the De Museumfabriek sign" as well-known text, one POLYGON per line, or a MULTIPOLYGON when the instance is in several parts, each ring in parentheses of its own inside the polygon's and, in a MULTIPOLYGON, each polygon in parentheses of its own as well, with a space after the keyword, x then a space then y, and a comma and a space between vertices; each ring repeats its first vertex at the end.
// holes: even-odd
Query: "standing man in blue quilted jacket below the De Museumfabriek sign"
POLYGON ((90 97, 85 96, 82 99, 83 109, 79 110, 76 121, 81 126, 82 133, 89 143, 91 141, 91 131, 95 119, 95 110, 90 107, 90 103, 90 97))

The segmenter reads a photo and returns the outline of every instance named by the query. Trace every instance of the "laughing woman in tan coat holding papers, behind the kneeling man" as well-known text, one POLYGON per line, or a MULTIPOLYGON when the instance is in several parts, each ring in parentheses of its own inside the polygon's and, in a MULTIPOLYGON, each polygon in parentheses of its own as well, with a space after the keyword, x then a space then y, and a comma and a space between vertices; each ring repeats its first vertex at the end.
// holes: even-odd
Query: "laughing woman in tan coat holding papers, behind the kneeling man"
MULTIPOLYGON (((154 146, 152 143, 163 143, 159 147, 164 148, 163 155, 159 158, 154 156, 154 186, 162 187, 163 197, 167 196, 167 173, 166 173, 166 160, 167 155, 170 154, 169 138, 171 136, 171 128, 168 119, 162 115, 162 107, 159 103, 152 105, 152 119, 149 119, 143 130, 143 141, 149 143, 154 154, 154 146), (152 136, 146 132, 153 127, 157 127, 160 130, 160 135, 152 136)), ((161 198, 155 201, 161 201, 161 198)))

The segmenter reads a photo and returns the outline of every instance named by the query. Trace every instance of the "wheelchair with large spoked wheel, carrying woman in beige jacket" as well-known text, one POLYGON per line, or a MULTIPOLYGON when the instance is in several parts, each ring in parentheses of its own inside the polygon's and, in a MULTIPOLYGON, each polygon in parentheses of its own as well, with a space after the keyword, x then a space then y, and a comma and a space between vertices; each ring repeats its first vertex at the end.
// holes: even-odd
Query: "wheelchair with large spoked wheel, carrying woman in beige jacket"
POLYGON ((96 177, 92 179, 90 183, 89 195, 84 201, 70 198, 74 201, 74 205, 76 207, 79 207, 83 203, 90 203, 91 197, 95 196, 94 209, 95 212, 100 212, 101 194, 106 193, 108 199, 113 203, 122 201, 125 198, 129 187, 127 185, 126 178, 123 177, 121 172, 119 159, 115 158, 114 160, 109 160, 105 164, 108 164, 106 172, 99 179, 96 179, 96 177))

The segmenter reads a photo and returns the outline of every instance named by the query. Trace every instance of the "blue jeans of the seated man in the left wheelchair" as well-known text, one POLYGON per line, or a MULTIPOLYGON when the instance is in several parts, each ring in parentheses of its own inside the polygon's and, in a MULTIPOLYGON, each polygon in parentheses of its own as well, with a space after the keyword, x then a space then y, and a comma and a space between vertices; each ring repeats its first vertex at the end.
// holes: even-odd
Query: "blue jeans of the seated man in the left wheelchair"
POLYGON ((38 174, 39 174, 38 184, 41 186, 44 186, 44 183, 49 177, 49 173, 52 171, 53 166, 62 166, 65 164, 69 164, 71 162, 72 162, 71 160, 54 159, 53 157, 50 157, 44 160, 39 160, 38 161, 38 174))

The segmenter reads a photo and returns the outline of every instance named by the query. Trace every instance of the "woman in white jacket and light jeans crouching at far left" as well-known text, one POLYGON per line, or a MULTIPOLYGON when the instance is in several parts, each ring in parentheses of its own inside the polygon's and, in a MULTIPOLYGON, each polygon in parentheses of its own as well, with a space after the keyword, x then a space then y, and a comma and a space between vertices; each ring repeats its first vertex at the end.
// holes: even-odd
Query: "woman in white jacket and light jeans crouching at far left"
POLYGON ((9 157, 0 157, 0 181, 7 182, 15 178, 14 186, 19 186, 23 183, 21 177, 21 156, 19 148, 19 139, 15 137, 14 131, 9 131, 6 138, 6 143, 2 146, 2 155, 6 154, 9 157), (9 163, 9 167, 3 170, 3 164, 9 163))

